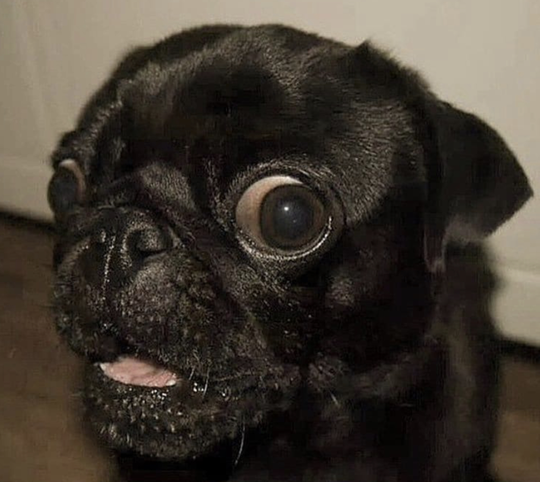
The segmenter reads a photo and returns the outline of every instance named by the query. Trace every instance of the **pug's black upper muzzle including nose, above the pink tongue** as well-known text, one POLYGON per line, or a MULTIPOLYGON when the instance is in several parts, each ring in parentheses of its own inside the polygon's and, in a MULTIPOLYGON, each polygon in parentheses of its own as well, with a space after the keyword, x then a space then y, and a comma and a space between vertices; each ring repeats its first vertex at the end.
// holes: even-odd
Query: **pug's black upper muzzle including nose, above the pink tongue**
POLYGON ((91 361, 138 356, 203 381, 209 370, 240 377, 245 363, 273 369, 253 315, 232 294, 239 283, 212 258, 228 250, 199 243, 204 257, 187 246, 179 232, 188 222, 125 207, 98 208, 80 221, 55 288, 57 325, 76 352, 91 361))

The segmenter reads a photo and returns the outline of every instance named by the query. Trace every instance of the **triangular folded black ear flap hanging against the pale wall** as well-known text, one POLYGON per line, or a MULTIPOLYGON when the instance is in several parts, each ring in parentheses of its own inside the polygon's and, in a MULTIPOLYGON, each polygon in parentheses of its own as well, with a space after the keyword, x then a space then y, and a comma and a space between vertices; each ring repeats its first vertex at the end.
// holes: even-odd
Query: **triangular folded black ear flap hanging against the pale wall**
POLYGON ((527 176, 494 129, 450 104, 430 101, 428 206, 424 255, 431 272, 444 269, 448 241, 489 235, 532 195, 527 176))

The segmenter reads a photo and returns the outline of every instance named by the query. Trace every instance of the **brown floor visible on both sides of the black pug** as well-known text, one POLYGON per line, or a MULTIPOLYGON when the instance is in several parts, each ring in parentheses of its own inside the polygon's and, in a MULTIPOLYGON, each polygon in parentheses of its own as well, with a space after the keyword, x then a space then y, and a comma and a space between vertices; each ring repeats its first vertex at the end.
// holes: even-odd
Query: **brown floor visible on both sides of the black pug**
MULTIPOLYGON (((49 304, 48 232, 0 218, 0 481, 106 482, 109 453, 82 429, 80 363, 49 304)), ((540 481, 540 365, 508 357, 494 457, 505 482, 540 481)))

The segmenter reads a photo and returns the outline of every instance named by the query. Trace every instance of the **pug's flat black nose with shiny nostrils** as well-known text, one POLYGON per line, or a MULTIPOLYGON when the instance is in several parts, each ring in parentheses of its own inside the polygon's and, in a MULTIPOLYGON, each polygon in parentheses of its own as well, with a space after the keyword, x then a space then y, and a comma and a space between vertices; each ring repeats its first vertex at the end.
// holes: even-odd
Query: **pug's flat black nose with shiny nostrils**
POLYGON ((172 247, 170 230, 142 211, 110 210, 100 218, 80 266, 87 283, 118 287, 129 283, 149 257, 172 247))

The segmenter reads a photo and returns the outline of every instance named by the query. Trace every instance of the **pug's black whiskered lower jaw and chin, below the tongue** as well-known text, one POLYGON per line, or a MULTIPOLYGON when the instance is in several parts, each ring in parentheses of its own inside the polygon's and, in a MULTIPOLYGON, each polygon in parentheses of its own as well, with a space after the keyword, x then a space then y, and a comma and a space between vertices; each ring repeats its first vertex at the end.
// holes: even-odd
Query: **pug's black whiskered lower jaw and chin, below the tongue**
POLYGON ((86 373, 87 418, 107 444, 120 451, 186 461, 257 426, 270 410, 286 410, 299 383, 298 372, 272 378, 266 386, 259 380, 244 393, 227 383, 189 378, 148 387, 113 380, 93 364, 86 373), (278 387, 278 379, 288 387, 278 387))

